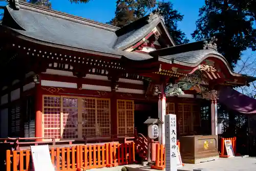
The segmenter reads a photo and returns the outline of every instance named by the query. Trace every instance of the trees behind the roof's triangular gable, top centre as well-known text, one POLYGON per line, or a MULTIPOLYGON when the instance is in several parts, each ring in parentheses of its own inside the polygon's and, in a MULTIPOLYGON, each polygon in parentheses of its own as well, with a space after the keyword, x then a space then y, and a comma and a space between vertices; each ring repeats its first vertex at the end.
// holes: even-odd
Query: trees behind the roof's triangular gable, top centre
POLYGON ((177 45, 188 42, 185 34, 178 29, 178 22, 182 21, 183 15, 173 8, 172 3, 157 3, 155 0, 118 0, 115 17, 108 24, 123 27, 154 10, 159 11, 164 17, 167 30, 177 45))

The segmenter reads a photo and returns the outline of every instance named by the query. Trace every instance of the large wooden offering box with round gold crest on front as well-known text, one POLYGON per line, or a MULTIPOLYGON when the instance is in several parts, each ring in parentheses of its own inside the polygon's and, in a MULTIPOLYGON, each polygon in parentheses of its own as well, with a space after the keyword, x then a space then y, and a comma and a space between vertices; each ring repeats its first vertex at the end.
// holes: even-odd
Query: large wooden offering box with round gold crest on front
POLYGON ((184 136, 179 140, 183 163, 197 164, 219 159, 217 135, 184 136))

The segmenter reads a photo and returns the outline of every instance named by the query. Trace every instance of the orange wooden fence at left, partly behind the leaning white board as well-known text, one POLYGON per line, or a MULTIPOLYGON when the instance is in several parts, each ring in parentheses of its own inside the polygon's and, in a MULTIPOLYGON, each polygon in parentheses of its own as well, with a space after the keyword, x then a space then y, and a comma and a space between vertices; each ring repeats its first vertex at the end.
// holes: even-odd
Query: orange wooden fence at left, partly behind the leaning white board
MULTIPOLYGON (((135 161, 134 142, 52 147, 49 149, 55 170, 114 167, 135 161)), ((33 170, 30 150, 6 151, 6 171, 33 170)))

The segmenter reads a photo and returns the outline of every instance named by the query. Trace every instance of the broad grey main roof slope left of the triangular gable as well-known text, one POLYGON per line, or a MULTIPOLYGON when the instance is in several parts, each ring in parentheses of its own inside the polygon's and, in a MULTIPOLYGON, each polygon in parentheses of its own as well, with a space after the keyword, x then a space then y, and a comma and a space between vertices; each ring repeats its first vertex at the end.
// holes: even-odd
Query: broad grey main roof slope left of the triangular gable
POLYGON ((49 10, 51 13, 44 13, 44 10, 38 12, 26 7, 19 10, 13 10, 9 6, 6 8, 6 12, 10 13, 16 24, 22 28, 14 30, 27 37, 62 46, 125 56, 133 60, 152 58, 147 54, 113 49, 117 40, 116 27, 104 25, 99 28, 99 24, 94 26, 88 22, 81 23, 80 18, 79 22, 76 22, 74 19, 58 17, 52 10, 49 10))

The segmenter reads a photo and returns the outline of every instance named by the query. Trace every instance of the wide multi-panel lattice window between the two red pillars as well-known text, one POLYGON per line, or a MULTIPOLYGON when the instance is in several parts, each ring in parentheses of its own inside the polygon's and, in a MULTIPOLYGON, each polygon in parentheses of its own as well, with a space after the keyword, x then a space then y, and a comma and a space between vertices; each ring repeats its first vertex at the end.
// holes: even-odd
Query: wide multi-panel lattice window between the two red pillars
POLYGON ((110 99, 44 96, 44 137, 83 139, 111 134, 110 99))

